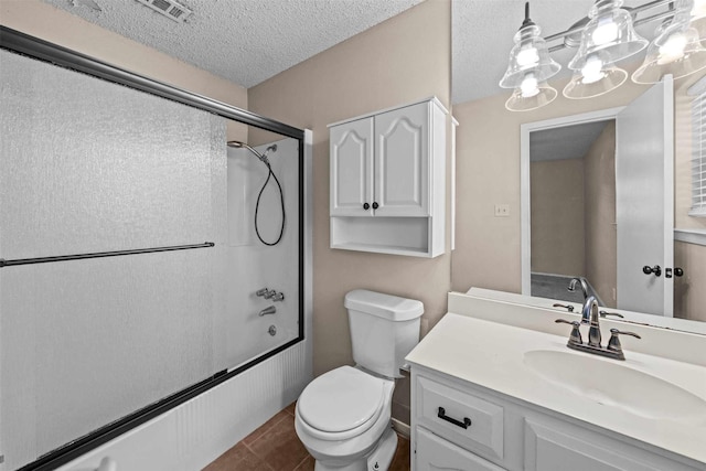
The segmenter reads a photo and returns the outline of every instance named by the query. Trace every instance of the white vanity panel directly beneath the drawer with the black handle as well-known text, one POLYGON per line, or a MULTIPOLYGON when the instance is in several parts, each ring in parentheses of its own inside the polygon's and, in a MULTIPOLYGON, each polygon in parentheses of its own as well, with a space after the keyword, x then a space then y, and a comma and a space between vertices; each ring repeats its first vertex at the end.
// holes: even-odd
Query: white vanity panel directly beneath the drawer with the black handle
POLYGON ((502 471, 490 461, 417 427, 416 471, 502 471))

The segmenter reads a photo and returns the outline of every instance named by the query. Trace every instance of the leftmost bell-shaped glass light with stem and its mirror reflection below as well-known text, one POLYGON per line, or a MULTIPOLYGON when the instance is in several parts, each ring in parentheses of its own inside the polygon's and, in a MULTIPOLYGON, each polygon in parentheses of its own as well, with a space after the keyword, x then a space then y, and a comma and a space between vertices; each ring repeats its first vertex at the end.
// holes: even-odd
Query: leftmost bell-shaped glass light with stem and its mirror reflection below
POLYGON ((503 88, 514 88, 505 108, 528 111, 552 103, 557 92, 546 81, 561 66, 552 58, 542 30, 530 19, 530 2, 525 3, 525 20, 515 33, 515 45, 510 51, 507 71, 500 81, 503 88))

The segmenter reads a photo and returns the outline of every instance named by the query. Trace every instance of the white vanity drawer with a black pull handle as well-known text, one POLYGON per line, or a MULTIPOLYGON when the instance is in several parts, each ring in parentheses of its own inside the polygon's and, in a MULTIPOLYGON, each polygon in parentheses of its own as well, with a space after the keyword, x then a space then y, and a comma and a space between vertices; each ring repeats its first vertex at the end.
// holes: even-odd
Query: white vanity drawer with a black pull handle
POLYGON ((503 459, 501 406, 424 376, 415 388, 418 425, 484 458, 503 459))

